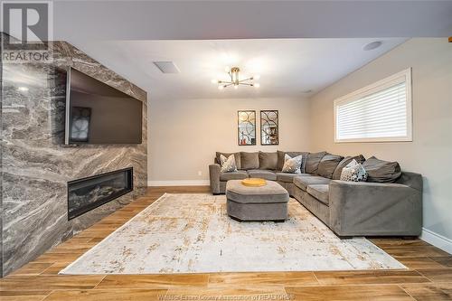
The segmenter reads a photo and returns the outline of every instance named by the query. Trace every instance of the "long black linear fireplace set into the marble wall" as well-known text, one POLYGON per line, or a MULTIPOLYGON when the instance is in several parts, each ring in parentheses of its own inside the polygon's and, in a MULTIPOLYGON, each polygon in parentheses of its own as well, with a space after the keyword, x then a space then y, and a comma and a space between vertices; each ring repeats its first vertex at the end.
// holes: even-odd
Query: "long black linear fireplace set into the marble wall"
POLYGON ((68 182, 68 219, 130 193, 133 187, 132 167, 68 182))

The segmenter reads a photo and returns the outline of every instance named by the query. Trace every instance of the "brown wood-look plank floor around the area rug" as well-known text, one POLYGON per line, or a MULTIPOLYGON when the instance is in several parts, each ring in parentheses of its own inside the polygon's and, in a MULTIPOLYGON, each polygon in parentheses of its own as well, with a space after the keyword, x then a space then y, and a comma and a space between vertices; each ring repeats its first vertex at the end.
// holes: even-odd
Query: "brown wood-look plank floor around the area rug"
POLYGON ((163 193, 208 187, 155 187, 77 236, 0 280, 0 301, 27 300, 452 300, 452 256, 422 240, 372 239, 408 270, 59 276, 163 193))

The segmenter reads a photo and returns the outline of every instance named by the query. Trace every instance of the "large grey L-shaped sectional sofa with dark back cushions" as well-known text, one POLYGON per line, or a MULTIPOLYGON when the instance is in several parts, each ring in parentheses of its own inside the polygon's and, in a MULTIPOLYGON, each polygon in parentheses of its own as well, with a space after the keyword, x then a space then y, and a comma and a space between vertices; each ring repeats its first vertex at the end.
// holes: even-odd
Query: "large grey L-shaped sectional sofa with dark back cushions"
POLYGON ((422 176, 401 172, 394 162, 363 155, 326 152, 234 153, 237 172, 221 173, 220 154, 209 166, 213 194, 225 193, 229 180, 259 177, 276 181, 340 237, 417 237, 422 227, 422 176), (282 173, 284 155, 303 155, 302 174, 282 173), (340 181, 345 165, 363 163, 368 182, 340 181))

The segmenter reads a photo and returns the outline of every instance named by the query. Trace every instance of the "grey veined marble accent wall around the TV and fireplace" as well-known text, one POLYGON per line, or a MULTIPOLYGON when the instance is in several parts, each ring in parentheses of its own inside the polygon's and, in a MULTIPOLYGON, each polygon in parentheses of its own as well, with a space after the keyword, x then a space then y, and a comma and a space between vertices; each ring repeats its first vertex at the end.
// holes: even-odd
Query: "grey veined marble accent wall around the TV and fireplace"
POLYGON ((52 42, 50 47, 52 63, 3 64, 0 114, 3 275, 146 192, 146 91, 68 42, 52 42), (63 145, 69 66, 143 101, 142 144, 63 145), (134 167, 133 193, 68 221, 68 181, 128 166, 134 167))

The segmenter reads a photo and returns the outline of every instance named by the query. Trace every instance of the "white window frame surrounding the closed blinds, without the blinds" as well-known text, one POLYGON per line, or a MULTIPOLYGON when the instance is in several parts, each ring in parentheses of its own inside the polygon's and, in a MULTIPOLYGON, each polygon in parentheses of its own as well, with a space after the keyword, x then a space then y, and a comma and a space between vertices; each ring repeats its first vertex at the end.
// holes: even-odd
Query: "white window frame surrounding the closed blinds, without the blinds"
POLYGON ((411 142, 413 141, 413 112, 412 112, 412 83, 411 83, 411 68, 400 71, 393 74, 383 80, 372 83, 371 85, 365 86, 362 89, 357 89, 352 93, 344 95, 338 99, 334 99, 334 143, 353 143, 353 142, 411 142), (381 136, 373 138, 348 138, 339 139, 337 138, 337 108, 340 105, 344 105, 353 102, 357 99, 362 99, 363 97, 372 95, 381 90, 388 89, 397 83, 406 82, 406 95, 407 95, 407 135, 406 136, 381 136))

